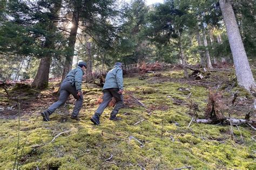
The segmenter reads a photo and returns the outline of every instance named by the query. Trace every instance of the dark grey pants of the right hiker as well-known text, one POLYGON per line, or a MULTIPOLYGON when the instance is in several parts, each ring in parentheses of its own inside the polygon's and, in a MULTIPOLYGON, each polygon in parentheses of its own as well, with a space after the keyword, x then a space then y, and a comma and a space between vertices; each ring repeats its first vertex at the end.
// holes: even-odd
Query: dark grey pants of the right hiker
POLYGON ((116 117, 118 111, 124 105, 123 95, 119 94, 118 91, 119 91, 119 89, 114 89, 114 88, 113 89, 105 89, 105 90, 103 90, 103 98, 102 98, 103 101, 99 105, 99 107, 96 110, 95 114, 97 114, 100 117, 100 115, 102 115, 102 113, 105 110, 105 108, 107 107, 107 105, 109 105, 112 97, 114 97, 114 99, 116 99, 116 105, 114 106, 114 109, 111 112, 110 116, 111 117, 116 117))

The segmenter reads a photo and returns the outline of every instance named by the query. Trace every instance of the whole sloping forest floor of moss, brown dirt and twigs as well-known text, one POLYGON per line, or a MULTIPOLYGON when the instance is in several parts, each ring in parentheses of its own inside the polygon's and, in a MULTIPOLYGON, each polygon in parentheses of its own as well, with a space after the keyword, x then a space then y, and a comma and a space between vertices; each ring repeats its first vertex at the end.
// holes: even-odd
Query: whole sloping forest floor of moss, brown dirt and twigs
MULTIPOLYGON (((253 73, 256 77, 256 69, 253 73)), ((102 94, 95 85, 83 84, 80 121, 70 119, 75 103, 72 97, 51 115, 51 121, 42 121, 40 113, 57 100, 53 94, 57 82, 42 91, 9 87, 9 96, 0 89, 1 169, 14 166, 18 127, 16 162, 22 169, 256 169, 256 135, 252 127, 194 121, 190 125, 195 117, 191 104, 198 106, 198 117, 204 118, 209 90, 217 90, 218 85, 225 116, 244 119, 253 110, 255 98, 234 86, 232 67, 215 69, 210 78, 202 80, 184 79, 179 69, 143 76, 124 78, 124 96, 135 97, 147 108, 127 101, 118 114, 122 120, 110 121, 112 108, 107 107, 98 126, 90 121, 102 94), (235 92, 238 97, 232 106, 235 92)), ((255 113, 251 119, 256 120, 255 113)))

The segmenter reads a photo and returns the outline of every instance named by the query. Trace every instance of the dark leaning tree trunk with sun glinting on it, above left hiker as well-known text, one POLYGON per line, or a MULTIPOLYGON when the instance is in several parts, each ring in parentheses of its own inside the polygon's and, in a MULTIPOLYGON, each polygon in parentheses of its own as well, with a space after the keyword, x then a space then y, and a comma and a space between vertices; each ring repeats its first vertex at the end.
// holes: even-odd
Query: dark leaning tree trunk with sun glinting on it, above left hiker
POLYGON ((77 37, 77 29, 78 29, 78 23, 79 23, 79 11, 76 9, 73 12, 72 17, 72 27, 70 30, 70 36, 69 36, 69 53, 66 55, 66 60, 64 64, 64 70, 62 74, 62 81, 65 79, 66 74, 72 70, 72 63, 73 63, 73 57, 74 57, 74 51, 75 51, 75 44, 76 44, 76 37, 77 37))

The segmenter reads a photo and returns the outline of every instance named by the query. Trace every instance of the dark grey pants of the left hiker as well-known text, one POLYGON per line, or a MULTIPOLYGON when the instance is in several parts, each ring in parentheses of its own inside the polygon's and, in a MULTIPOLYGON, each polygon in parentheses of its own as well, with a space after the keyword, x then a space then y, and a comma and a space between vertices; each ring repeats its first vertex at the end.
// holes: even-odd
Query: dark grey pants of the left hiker
POLYGON ((48 111, 49 114, 52 114, 58 107, 62 106, 66 102, 70 94, 72 94, 72 96, 77 99, 72 112, 72 115, 76 117, 82 107, 83 96, 82 94, 80 96, 77 96, 76 87, 72 86, 69 81, 65 81, 62 83, 62 85, 60 85, 60 94, 58 101, 53 103, 46 111, 48 111))

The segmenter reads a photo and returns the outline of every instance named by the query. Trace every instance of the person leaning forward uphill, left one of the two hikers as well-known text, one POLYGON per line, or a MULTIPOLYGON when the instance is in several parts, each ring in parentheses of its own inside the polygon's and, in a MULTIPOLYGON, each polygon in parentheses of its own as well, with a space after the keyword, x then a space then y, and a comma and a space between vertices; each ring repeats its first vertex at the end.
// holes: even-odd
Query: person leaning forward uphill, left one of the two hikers
POLYGON ((60 94, 59 99, 53 103, 47 110, 41 113, 43 121, 50 121, 50 115, 60 106, 62 106, 70 94, 77 99, 75 107, 71 115, 71 119, 80 120, 78 118, 78 113, 83 104, 83 95, 82 95, 82 80, 83 74, 86 69, 86 62, 79 62, 76 69, 71 70, 63 80, 60 85, 60 94))

